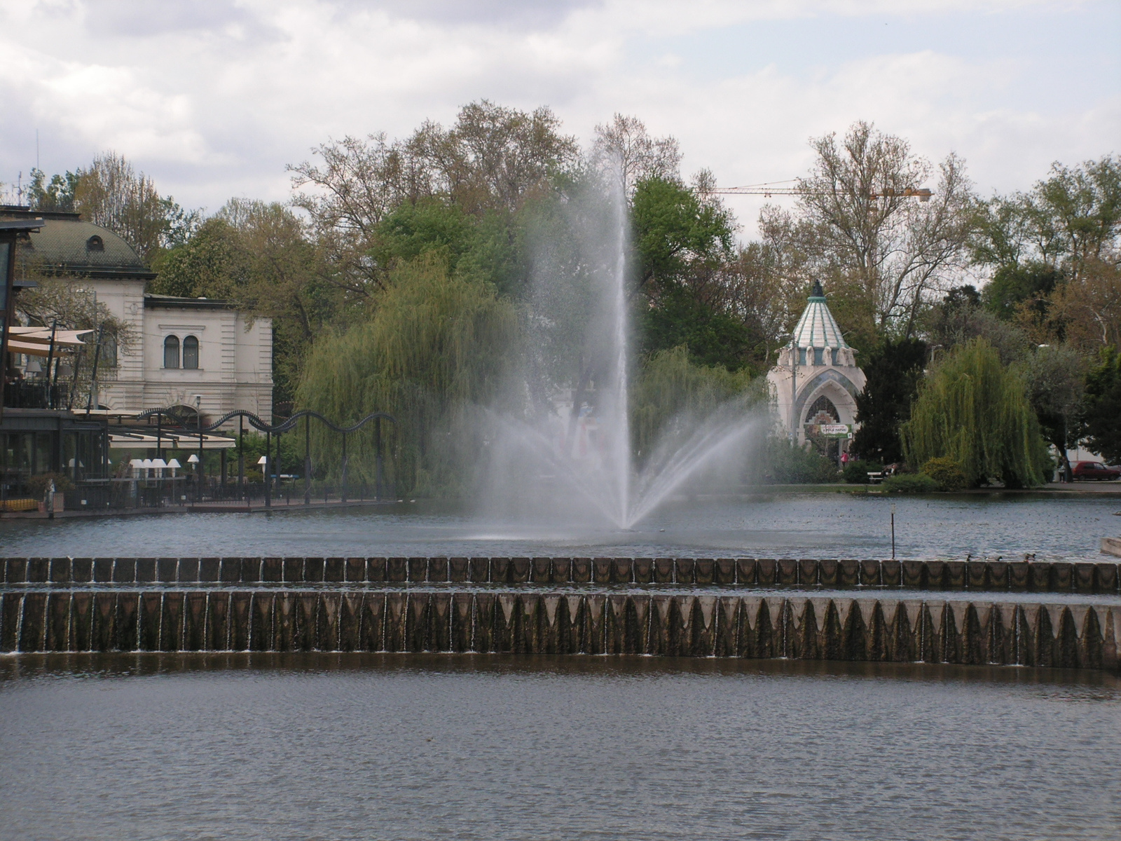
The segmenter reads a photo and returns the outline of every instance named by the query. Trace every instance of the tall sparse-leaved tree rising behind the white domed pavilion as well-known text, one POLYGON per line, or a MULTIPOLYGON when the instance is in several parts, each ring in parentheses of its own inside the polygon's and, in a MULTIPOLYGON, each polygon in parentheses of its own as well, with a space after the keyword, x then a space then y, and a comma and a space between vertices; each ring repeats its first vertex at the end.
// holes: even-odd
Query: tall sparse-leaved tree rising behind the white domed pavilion
POLYGON ((964 163, 948 155, 933 196, 918 201, 908 194, 935 169, 902 138, 861 121, 840 144, 827 135, 810 146, 816 160, 798 179, 798 209, 819 276, 851 283, 878 331, 910 336, 928 294, 965 253, 972 216, 964 163))

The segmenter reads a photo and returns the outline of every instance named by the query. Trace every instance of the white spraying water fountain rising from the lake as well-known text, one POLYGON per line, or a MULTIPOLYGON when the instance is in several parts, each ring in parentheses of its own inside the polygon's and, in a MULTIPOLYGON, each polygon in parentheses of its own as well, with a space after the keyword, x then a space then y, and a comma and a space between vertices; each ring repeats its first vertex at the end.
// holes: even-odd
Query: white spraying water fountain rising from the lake
MULTIPOLYGON (((549 331, 577 333, 569 341, 553 342, 574 349, 567 363, 569 376, 577 372, 576 383, 530 383, 540 377, 541 367, 522 368, 512 390, 552 391, 550 405, 525 416, 490 417, 498 434, 490 445, 483 507, 520 523, 586 527, 597 520, 630 529, 692 483, 738 481, 769 426, 767 413, 753 409, 747 399, 735 400, 704 418, 676 418, 642 463, 636 462, 627 202, 618 179, 608 181, 609 232, 586 219, 577 223, 582 252, 592 267, 585 290, 590 317, 565 322, 546 316, 529 326, 531 346, 546 343, 539 338, 549 331)), ((601 219, 600 213, 590 215, 601 219)), ((539 289, 555 283, 564 280, 548 268, 538 272, 539 289)), ((538 301, 547 297, 543 293, 538 301)))

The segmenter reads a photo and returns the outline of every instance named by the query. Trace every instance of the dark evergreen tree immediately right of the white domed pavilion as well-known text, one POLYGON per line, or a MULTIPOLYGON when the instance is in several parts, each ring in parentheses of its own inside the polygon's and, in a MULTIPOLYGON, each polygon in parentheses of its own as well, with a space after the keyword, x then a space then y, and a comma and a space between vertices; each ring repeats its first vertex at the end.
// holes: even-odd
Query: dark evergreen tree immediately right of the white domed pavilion
POLYGON ((926 342, 901 339, 883 343, 863 366, 868 382, 856 395, 856 423, 852 449, 859 458, 891 464, 904 460, 899 429, 910 418, 929 351, 926 342))

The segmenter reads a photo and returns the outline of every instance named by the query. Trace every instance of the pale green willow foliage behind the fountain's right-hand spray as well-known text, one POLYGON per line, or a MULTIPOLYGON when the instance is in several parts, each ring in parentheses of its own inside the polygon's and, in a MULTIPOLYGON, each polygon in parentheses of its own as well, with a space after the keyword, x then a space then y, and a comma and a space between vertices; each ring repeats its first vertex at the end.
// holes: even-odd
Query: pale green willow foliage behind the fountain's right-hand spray
POLYGON ((656 351, 631 389, 631 437, 639 459, 655 446, 668 424, 703 419, 752 387, 745 371, 697 364, 685 346, 656 351))

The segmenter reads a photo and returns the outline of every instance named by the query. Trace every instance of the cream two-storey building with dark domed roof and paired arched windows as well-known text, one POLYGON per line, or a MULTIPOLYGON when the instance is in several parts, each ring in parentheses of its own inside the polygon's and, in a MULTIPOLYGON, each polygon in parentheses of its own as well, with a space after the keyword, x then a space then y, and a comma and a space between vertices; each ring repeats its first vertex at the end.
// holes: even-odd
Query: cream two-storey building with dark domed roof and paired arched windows
POLYGON ((76 213, 15 207, 0 213, 44 220, 43 230, 20 248, 20 261, 28 270, 73 278, 75 287, 95 294, 100 304, 132 326, 133 346, 120 350, 111 378, 99 376, 102 407, 135 413, 173 404, 194 406, 201 396, 204 415, 248 409, 271 419, 271 320, 250 323, 225 301, 146 294, 145 285, 155 275, 136 251, 76 213))

